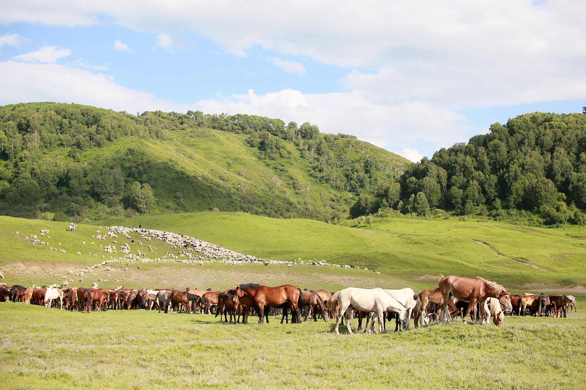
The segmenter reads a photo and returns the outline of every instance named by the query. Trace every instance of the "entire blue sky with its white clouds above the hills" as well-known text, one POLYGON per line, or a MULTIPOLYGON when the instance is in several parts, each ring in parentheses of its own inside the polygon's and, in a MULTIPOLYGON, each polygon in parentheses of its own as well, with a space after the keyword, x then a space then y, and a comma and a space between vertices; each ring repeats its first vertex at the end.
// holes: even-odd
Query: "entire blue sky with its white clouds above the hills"
POLYGON ((412 160, 586 105, 579 1, 4 2, 0 104, 265 115, 412 160))

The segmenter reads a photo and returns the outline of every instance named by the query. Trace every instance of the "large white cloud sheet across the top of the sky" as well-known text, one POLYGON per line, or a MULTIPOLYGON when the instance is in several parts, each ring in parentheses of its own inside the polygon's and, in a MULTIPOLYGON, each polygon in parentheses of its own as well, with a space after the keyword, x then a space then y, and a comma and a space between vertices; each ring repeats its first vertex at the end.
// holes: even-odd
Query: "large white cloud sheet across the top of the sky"
MULTIPOLYGON (((205 36, 246 56, 258 46, 326 64, 373 69, 343 85, 442 107, 586 97, 586 2, 174 2, 40 0, 6 4, 0 23, 92 25, 205 36), (193 15, 205 15, 194 18, 193 15), (290 21, 302 21, 299 23, 290 21)), ((157 46, 177 47, 161 34, 157 46)))

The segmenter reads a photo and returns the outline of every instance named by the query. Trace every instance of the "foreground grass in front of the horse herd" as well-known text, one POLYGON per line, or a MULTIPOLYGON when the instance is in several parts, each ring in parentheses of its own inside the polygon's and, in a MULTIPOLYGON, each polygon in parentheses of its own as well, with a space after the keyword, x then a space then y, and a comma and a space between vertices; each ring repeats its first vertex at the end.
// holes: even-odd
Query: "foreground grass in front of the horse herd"
POLYGON ((336 336, 332 321, 220 325, 205 314, 0 305, 6 389, 550 389, 584 388, 586 375, 583 306, 568 319, 336 336))

